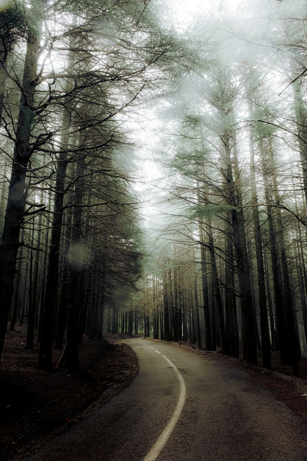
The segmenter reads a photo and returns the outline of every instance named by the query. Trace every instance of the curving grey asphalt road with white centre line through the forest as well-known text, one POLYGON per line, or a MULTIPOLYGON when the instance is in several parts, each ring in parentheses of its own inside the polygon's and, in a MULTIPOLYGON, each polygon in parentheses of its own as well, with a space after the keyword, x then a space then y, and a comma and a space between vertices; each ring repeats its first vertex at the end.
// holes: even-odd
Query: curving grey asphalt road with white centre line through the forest
POLYGON ((248 373, 175 344, 124 343, 139 361, 133 383, 27 460, 307 460, 304 420, 248 373))

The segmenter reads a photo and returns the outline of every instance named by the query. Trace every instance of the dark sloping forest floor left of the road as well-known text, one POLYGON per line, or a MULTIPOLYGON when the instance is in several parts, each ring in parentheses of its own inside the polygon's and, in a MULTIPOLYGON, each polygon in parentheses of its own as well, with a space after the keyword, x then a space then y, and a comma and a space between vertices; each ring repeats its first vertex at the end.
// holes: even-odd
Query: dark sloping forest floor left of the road
MULTIPOLYGON (((116 395, 138 372, 132 350, 110 333, 108 342, 84 338, 80 373, 64 367, 55 373, 38 371, 38 343, 32 350, 24 349, 26 335, 26 325, 6 333, 0 365, 1 461, 26 457, 46 437, 55 437, 116 395)), ((54 366, 61 354, 53 349, 54 366)))

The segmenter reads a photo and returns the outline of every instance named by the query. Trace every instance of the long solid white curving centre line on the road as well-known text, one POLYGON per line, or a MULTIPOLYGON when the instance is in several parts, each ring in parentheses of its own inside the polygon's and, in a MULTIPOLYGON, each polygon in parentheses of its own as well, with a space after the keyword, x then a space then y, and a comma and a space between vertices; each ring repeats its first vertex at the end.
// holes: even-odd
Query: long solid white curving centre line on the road
MULTIPOLYGON (((156 352, 158 351, 156 350, 156 352)), ((161 353, 159 352, 159 354, 161 353)), ((165 443, 167 443, 169 436, 173 432, 174 427, 180 418, 180 414, 185 404, 185 395, 186 395, 185 380, 183 379, 178 368, 174 366, 174 363, 172 363, 167 357, 165 357, 165 355, 162 355, 162 357, 169 363, 170 366, 174 368, 174 372, 176 373, 177 378, 179 379, 179 383, 180 383, 180 394, 179 394, 179 399, 178 399, 175 411, 173 413, 173 416, 168 421, 168 425, 165 427, 164 431, 162 432, 162 434, 160 435, 160 437, 158 438, 158 440, 156 441, 156 443, 154 444, 150 452, 145 456, 143 461, 155 461, 156 460, 157 456, 159 455, 160 451, 164 447, 165 443)))

